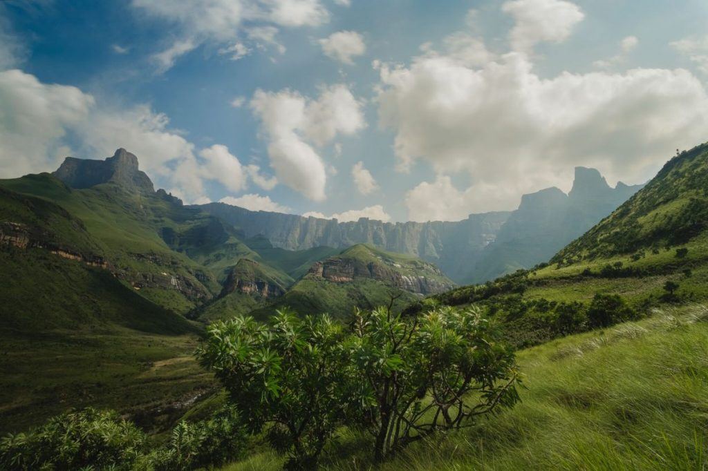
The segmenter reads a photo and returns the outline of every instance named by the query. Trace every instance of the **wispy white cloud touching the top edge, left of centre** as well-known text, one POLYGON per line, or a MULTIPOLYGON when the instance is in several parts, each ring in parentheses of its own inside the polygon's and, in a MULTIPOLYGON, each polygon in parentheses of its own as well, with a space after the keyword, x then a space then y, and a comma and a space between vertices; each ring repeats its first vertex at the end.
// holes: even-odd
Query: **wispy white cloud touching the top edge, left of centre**
MULTIPOLYGON (((317 26, 329 21, 320 0, 132 0, 133 8, 171 23, 177 40, 154 55, 159 71, 203 42, 228 44, 222 51, 240 59, 250 48, 239 41, 249 37, 256 45, 277 44, 278 27, 317 26)), ((280 45, 278 45, 280 46, 280 45)), ((284 51, 282 46, 279 49, 284 51)))

